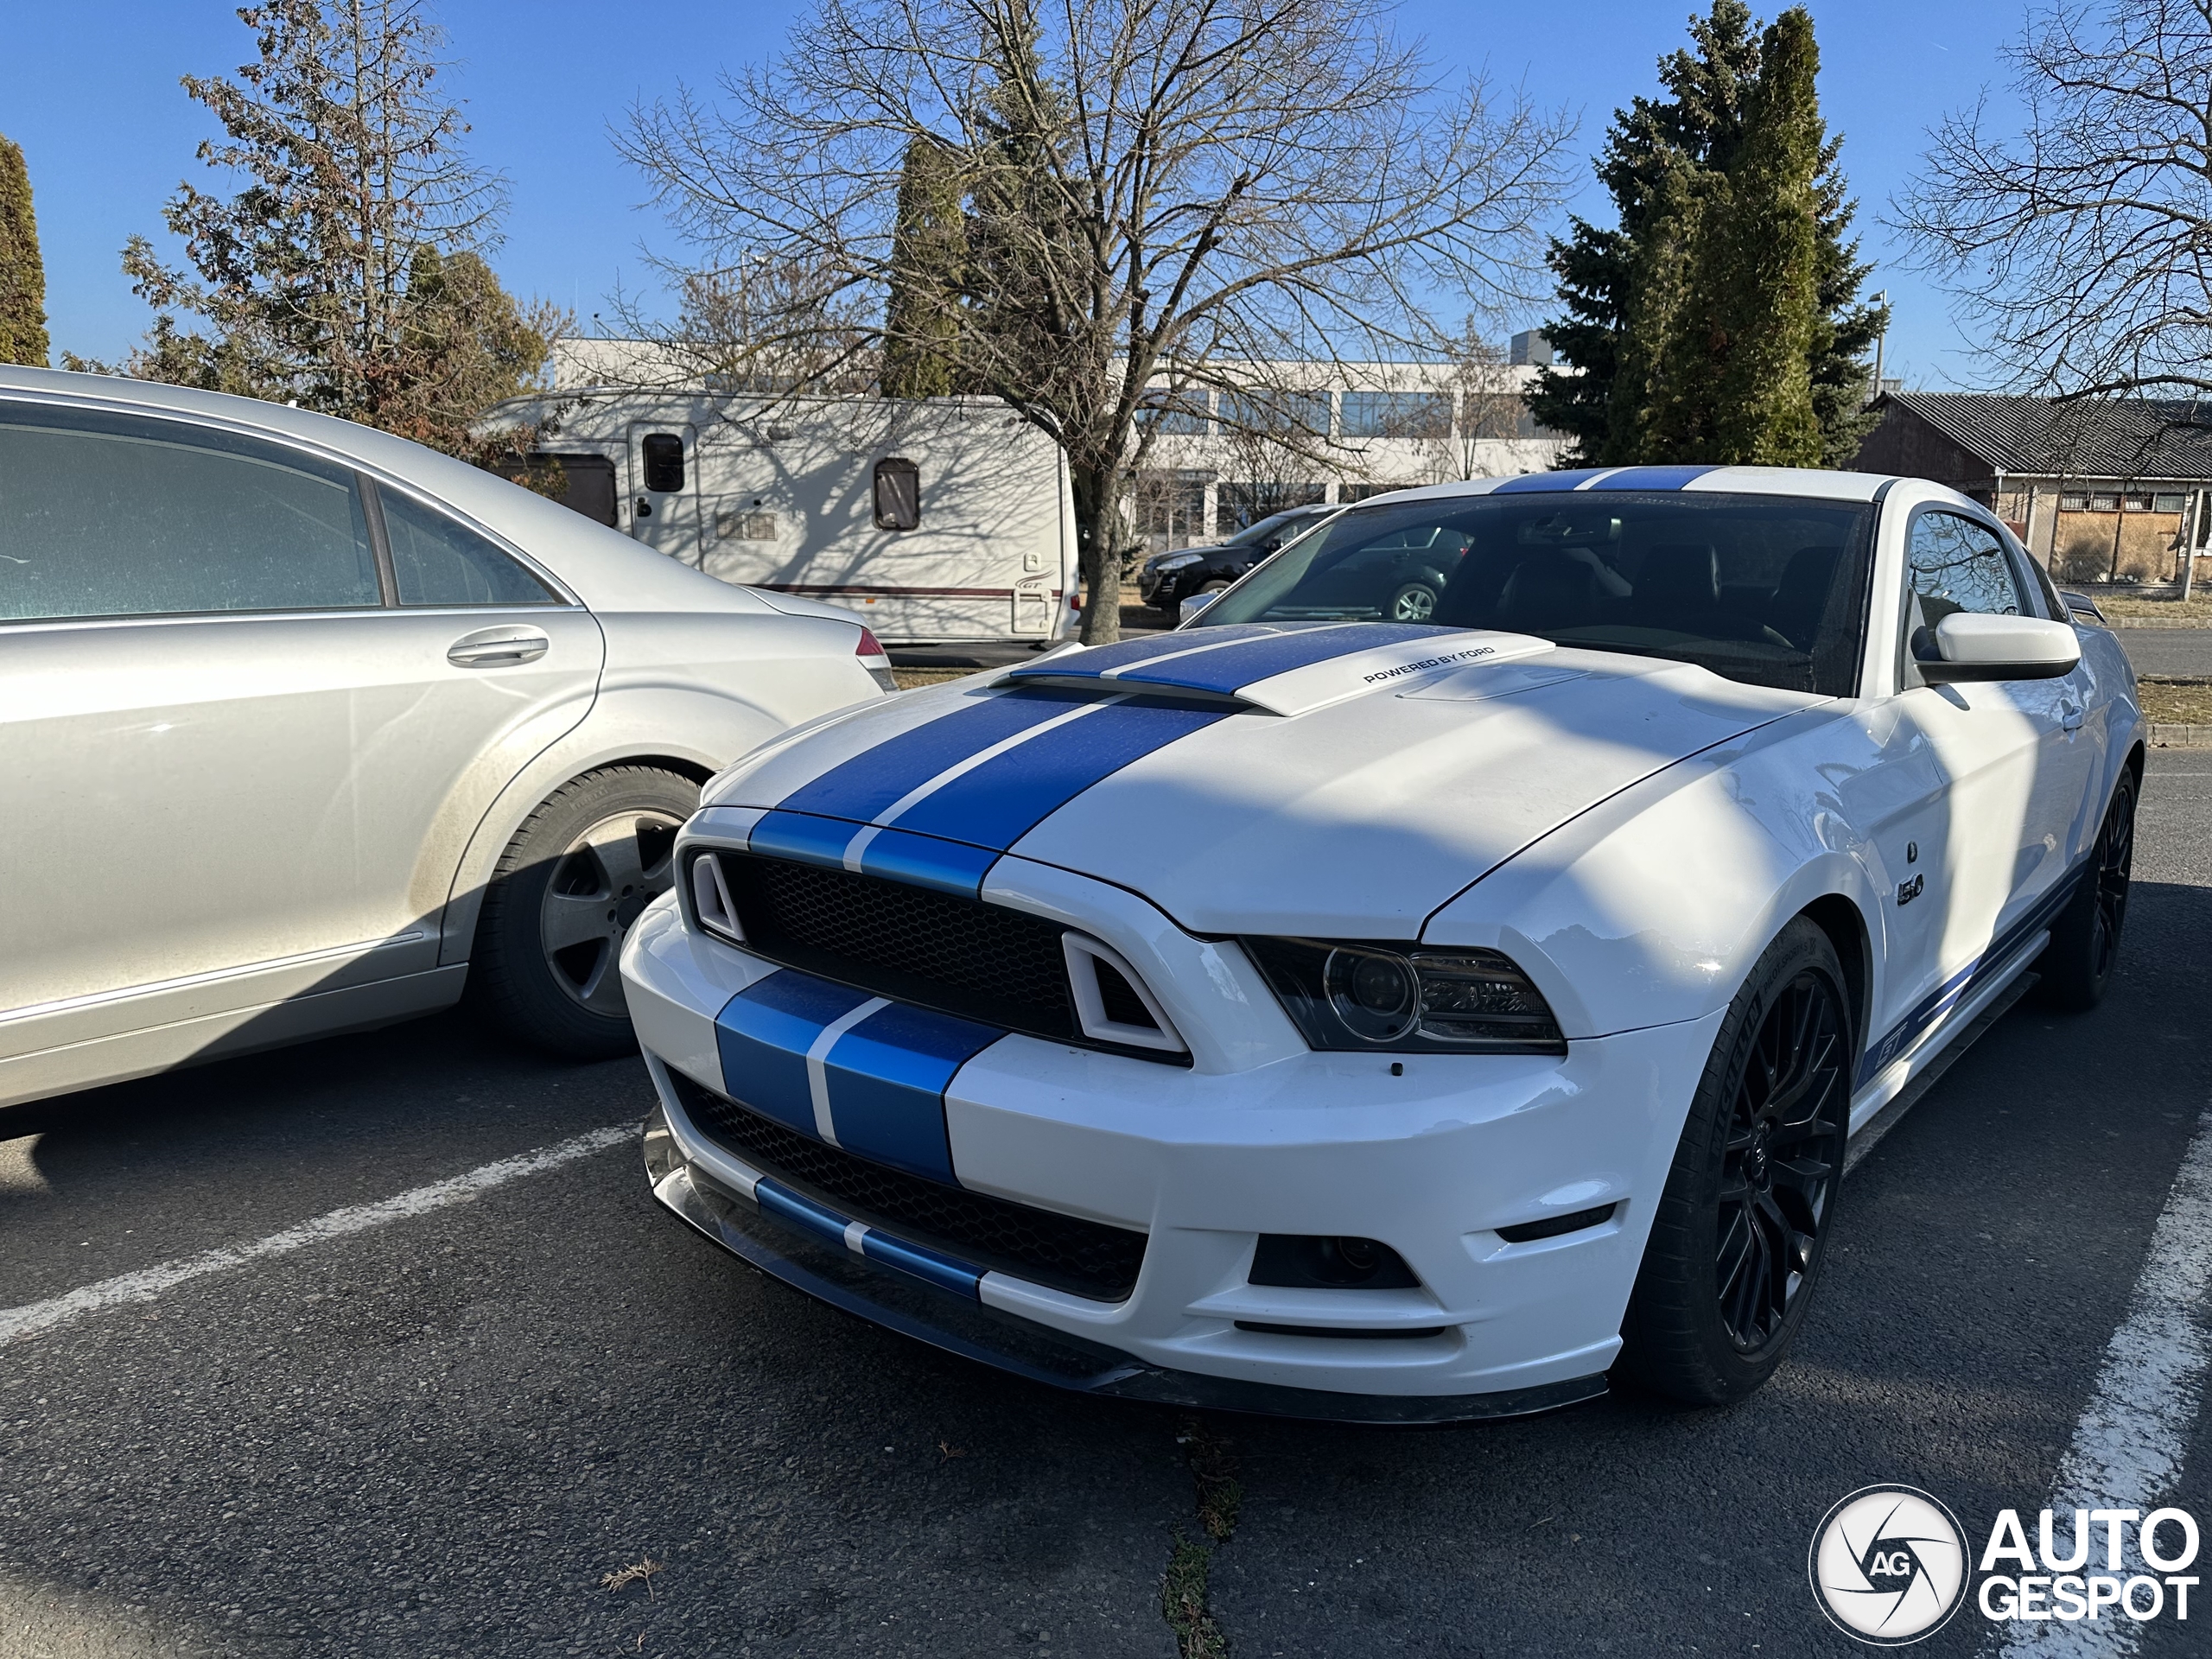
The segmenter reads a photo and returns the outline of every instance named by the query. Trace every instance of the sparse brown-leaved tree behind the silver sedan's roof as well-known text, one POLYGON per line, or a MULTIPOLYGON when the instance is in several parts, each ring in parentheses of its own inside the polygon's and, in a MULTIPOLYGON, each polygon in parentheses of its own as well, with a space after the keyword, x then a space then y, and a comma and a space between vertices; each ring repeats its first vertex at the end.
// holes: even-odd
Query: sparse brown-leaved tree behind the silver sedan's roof
POLYGON ((268 0, 239 18, 257 62, 184 80, 226 133, 199 159, 239 188, 184 184, 168 201, 184 268, 131 239, 124 272, 157 316, 122 372, 292 400, 471 460, 526 442, 473 427, 526 389, 566 316, 518 307, 482 259, 502 186, 460 153, 425 9, 268 0))

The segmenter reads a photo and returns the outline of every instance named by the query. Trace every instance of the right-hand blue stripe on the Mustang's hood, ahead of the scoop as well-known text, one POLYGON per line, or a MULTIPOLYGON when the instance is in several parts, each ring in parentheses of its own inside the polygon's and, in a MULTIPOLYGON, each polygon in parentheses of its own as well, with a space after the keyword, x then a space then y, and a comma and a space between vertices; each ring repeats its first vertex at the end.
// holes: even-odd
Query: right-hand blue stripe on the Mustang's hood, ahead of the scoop
MULTIPOLYGON (((1110 681, 1108 681, 1110 684, 1110 681)), ((1221 708, 1113 703, 962 772, 898 816, 900 830, 1004 852, 1093 783, 1225 719, 1221 708)))

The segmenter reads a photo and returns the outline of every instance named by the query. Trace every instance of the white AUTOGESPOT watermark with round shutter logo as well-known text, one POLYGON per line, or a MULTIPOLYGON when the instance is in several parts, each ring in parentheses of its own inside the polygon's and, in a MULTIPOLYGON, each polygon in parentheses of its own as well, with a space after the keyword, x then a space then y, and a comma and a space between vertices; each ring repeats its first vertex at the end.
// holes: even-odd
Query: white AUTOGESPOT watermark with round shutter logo
POLYGON ((2033 1537, 2017 1509, 2000 1509, 1975 1559, 1942 1500, 1918 1486, 1860 1486, 1820 1517, 1807 1575, 1838 1630, 1902 1648, 1942 1630, 1966 1601, 1991 1624, 2185 1621, 2197 1544, 2185 1509, 2046 1509, 2033 1537))

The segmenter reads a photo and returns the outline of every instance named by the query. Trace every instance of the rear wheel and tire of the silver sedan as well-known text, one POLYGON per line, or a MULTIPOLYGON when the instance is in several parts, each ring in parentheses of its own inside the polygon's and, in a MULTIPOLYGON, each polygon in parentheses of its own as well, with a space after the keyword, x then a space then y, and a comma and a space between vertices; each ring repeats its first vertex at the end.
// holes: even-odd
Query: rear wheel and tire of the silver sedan
POLYGON ((484 889, 469 998, 509 1035, 568 1060, 633 1053, 617 958, 637 911, 668 891, 699 785, 613 765, 562 785, 507 843, 484 889))

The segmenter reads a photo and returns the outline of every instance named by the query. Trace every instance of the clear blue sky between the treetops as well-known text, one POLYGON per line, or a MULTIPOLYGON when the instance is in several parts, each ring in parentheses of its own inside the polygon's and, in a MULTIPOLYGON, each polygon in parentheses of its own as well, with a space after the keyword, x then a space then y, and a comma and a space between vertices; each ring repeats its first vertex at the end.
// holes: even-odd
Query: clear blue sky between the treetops
MULTIPOLYGON (((772 51, 796 9, 794 0, 445 0, 458 60, 451 86, 467 100, 471 146, 513 190, 495 261, 504 283, 575 305, 586 330, 617 281, 648 285, 639 243, 668 237, 639 206, 644 190, 615 159, 608 124, 633 100, 679 80, 710 82, 719 66, 772 51)), ((1400 27, 1425 35, 1442 64, 1486 66, 1577 111, 1586 157, 1613 108, 1650 91, 1652 66, 1683 40, 1688 13, 1688 0, 1409 0, 1400 27)), ((1973 385, 1973 343, 1953 327, 1944 294, 1898 268, 1876 215, 1913 170, 1933 119, 1984 86, 2008 102, 1997 46, 2017 38, 2024 15, 2024 0, 1814 0, 1820 102, 1829 128, 1845 133, 1843 166, 1876 261, 1869 285, 1887 288, 1898 307, 1889 374, 1909 385, 1973 385)), ((13 9, 0 133, 31 166, 55 352, 115 356, 144 332, 148 314, 117 252, 135 230, 159 232, 161 201, 181 177, 208 177, 192 148, 212 124, 177 77, 228 73, 250 55, 232 7, 210 0, 13 9)), ((1577 177, 1579 197, 1562 208, 1595 210, 1588 168, 1577 177)))

